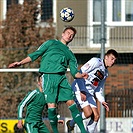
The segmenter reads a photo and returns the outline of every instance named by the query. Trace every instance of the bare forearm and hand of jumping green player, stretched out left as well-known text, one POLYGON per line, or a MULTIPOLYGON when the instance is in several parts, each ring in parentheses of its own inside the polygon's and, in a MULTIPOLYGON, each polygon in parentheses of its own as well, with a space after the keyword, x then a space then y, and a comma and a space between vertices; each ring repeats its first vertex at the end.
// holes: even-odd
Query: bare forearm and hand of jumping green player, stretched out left
POLYGON ((21 65, 24 65, 24 64, 27 64, 31 62, 31 58, 28 56, 26 57, 25 59, 19 61, 19 62, 14 62, 14 63, 11 63, 9 64, 9 68, 15 68, 15 67, 18 67, 18 66, 21 66, 21 65))

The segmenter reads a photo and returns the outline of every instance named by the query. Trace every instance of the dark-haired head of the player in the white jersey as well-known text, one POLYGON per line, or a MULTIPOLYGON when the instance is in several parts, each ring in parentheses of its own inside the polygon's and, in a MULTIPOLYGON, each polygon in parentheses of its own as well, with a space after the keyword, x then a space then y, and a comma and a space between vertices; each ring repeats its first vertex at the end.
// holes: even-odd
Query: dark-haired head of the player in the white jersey
POLYGON ((116 59, 118 58, 118 53, 114 49, 109 49, 104 56, 104 62, 106 67, 111 67, 115 64, 116 59))

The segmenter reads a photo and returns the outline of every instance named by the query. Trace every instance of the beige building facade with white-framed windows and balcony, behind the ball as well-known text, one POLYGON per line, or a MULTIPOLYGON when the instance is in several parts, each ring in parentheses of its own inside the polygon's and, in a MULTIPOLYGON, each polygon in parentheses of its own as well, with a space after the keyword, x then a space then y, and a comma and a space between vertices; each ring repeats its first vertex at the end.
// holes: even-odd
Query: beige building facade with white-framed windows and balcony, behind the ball
MULTIPOLYGON (((57 33, 62 28, 74 25, 78 30, 77 36, 70 47, 74 53, 95 53, 101 47, 101 0, 57 0, 57 33), (71 7, 75 18, 66 23, 59 19, 63 7, 71 7)), ((105 47, 115 48, 118 52, 133 51, 133 1, 106 0, 105 8, 105 47)))

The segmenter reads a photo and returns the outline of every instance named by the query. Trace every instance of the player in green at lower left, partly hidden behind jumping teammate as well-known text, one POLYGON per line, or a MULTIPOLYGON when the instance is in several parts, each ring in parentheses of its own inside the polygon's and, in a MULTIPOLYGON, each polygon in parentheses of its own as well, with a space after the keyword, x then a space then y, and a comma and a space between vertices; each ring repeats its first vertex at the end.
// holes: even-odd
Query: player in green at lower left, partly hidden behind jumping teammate
MULTIPOLYGON (((41 74, 38 76, 38 88, 29 92, 18 105, 17 127, 26 129, 27 133, 50 133, 42 120, 42 112, 46 105, 45 96, 42 89, 41 74), (26 107, 25 123, 23 124, 23 110, 26 107)), ((58 120, 63 124, 63 120, 58 120)))

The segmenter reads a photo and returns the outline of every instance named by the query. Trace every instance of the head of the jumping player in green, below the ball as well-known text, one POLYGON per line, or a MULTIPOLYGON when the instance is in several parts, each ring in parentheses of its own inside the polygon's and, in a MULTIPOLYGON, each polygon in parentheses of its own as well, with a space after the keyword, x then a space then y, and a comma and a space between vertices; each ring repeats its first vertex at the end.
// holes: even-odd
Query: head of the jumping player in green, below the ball
POLYGON ((68 44, 73 40, 76 33, 77 31, 74 27, 72 26, 66 27, 62 32, 61 42, 63 42, 64 44, 68 44))

